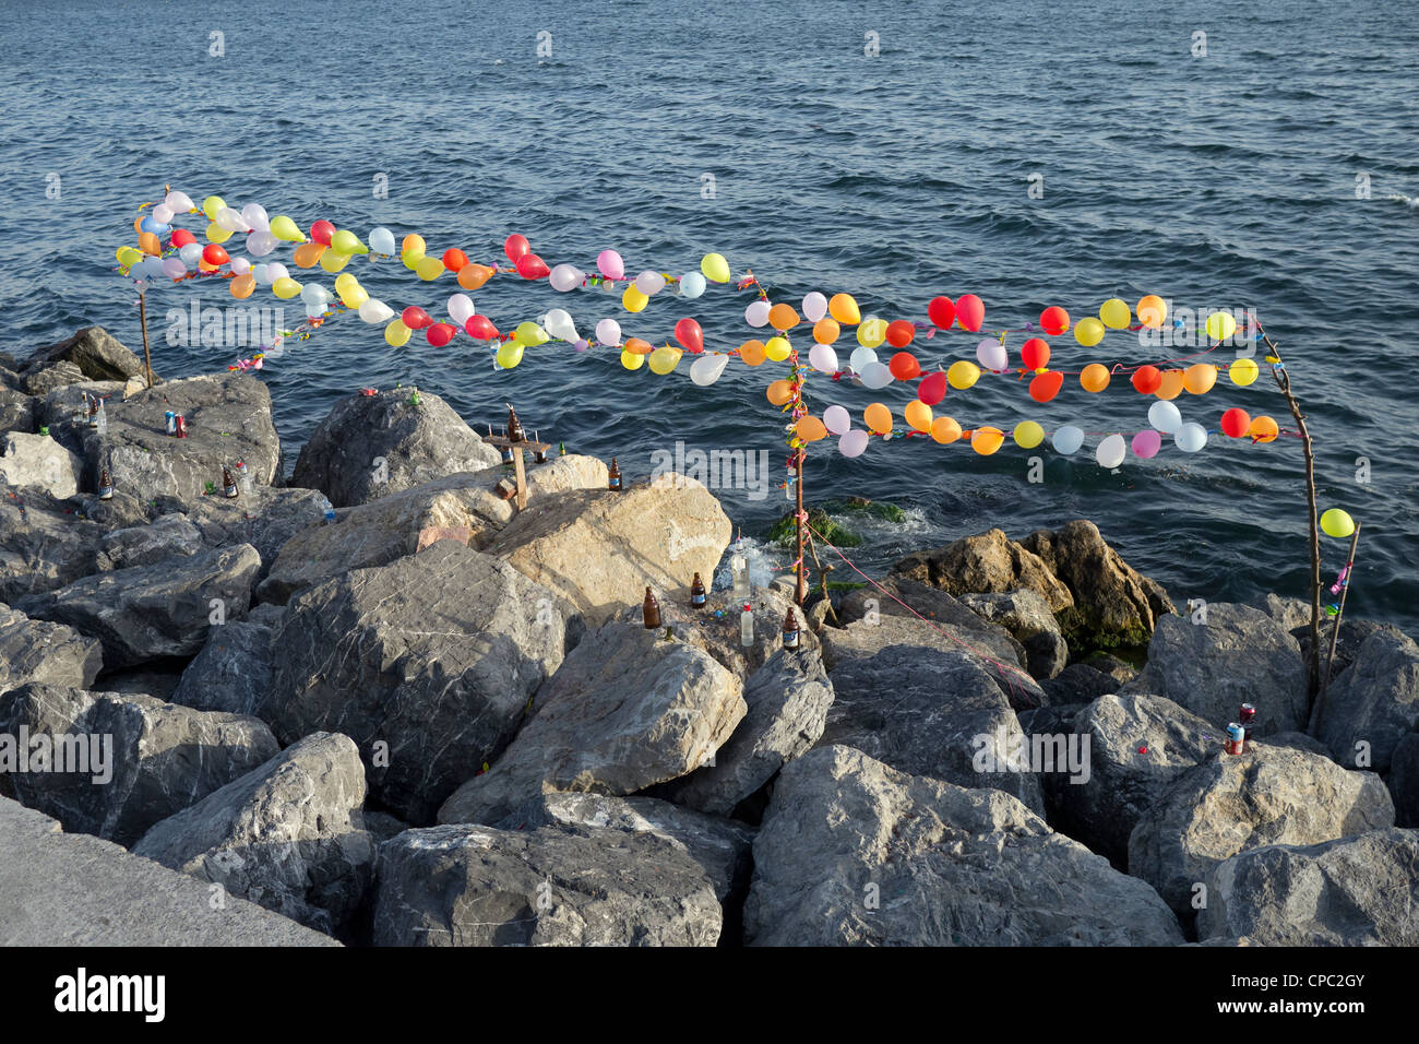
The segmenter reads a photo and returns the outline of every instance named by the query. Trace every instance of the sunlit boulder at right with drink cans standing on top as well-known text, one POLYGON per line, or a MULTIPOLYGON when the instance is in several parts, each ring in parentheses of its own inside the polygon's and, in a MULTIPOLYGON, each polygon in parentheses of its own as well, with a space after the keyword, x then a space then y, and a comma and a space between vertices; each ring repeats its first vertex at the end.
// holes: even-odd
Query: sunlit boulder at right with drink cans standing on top
POLYGON ((1314 845, 1393 822, 1395 805, 1374 773, 1256 741, 1249 754, 1215 754, 1152 803, 1128 838, 1128 872, 1191 918, 1196 885, 1237 852, 1314 845))

